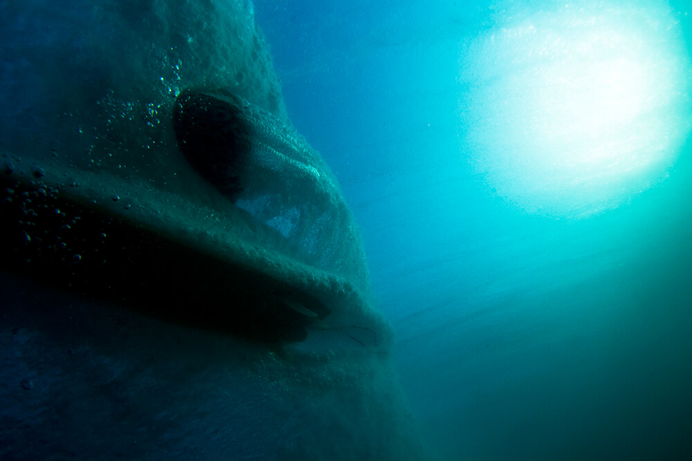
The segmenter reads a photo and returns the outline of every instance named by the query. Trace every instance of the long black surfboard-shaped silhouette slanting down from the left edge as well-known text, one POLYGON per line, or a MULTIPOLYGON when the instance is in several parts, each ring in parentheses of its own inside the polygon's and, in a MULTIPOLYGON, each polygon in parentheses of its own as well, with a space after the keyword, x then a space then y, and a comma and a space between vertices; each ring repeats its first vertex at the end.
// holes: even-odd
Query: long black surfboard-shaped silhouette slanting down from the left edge
POLYGON ((330 310, 285 282, 73 200, 0 176, 3 269, 163 321, 267 342, 302 341, 330 310))

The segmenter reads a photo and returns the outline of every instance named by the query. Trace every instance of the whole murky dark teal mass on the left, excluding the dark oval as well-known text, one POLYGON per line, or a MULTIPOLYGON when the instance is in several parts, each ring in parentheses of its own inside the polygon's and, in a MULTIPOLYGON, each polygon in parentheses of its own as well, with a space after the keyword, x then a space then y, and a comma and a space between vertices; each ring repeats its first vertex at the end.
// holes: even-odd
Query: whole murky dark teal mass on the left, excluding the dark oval
POLYGON ((251 2, 0 17, 0 457, 417 458, 352 215, 251 2), (242 109, 231 193, 176 138, 185 91, 242 109))

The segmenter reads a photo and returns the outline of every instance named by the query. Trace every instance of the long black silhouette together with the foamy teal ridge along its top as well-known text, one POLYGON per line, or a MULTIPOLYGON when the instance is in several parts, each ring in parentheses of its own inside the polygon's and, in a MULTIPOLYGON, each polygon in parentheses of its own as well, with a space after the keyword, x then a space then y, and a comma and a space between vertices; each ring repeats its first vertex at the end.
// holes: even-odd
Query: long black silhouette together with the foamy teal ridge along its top
POLYGON ((196 228, 182 216, 192 212, 185 198, 148 189, 120 200, 104 191, 122 178, 74 171, 79 186, 71 187, 55 173, 26 170, 0 172, 0 258, 10 272, 248 339, 302 341, 327 316, 380 332, 378 342, 390 337, 347 280, 196 228))

